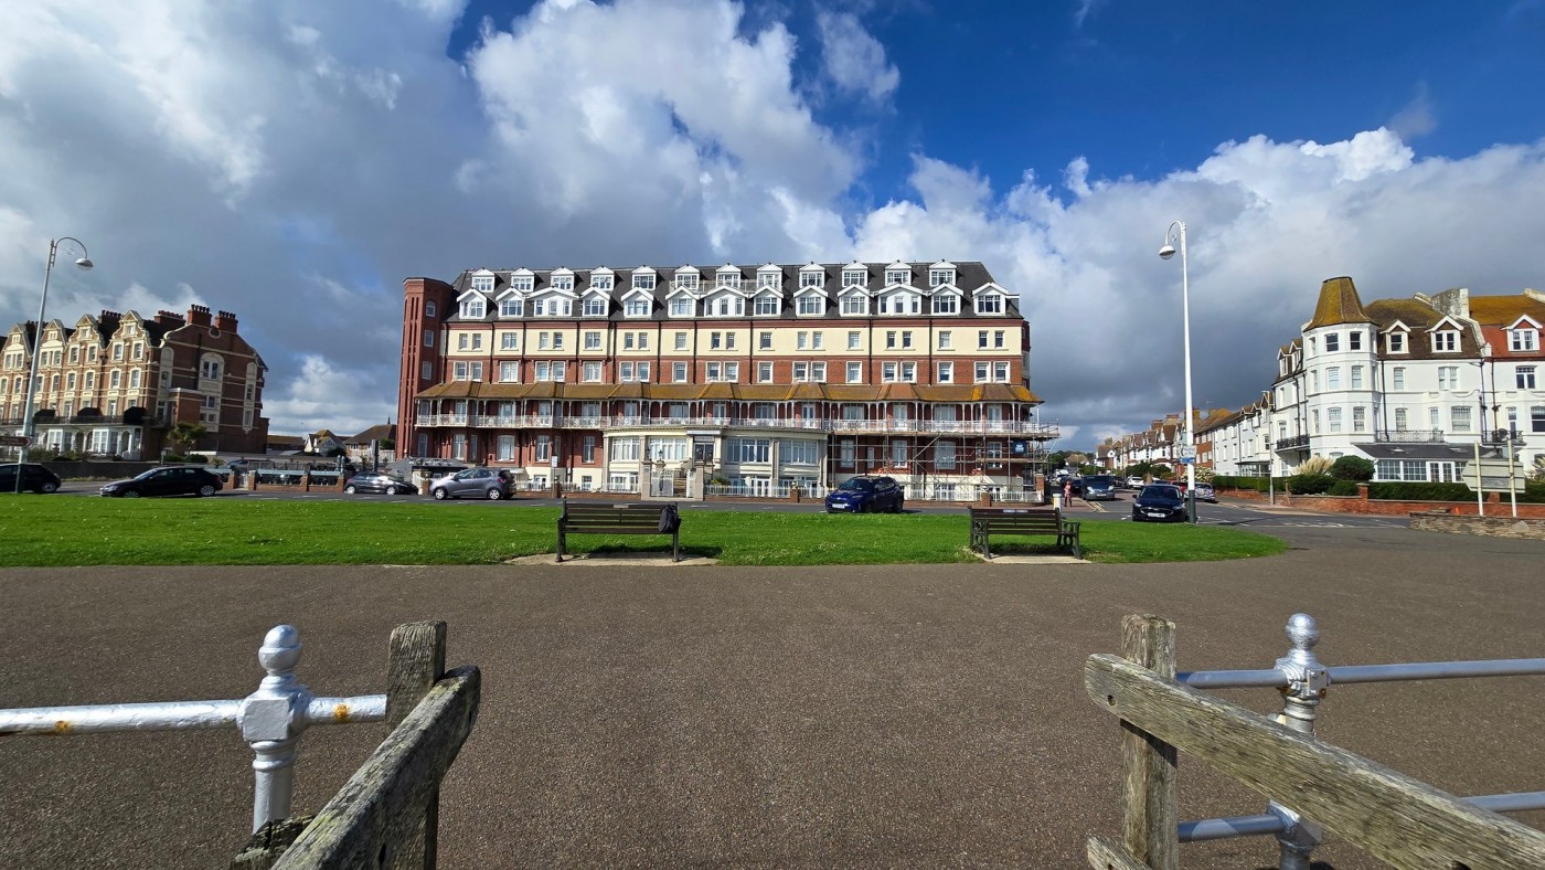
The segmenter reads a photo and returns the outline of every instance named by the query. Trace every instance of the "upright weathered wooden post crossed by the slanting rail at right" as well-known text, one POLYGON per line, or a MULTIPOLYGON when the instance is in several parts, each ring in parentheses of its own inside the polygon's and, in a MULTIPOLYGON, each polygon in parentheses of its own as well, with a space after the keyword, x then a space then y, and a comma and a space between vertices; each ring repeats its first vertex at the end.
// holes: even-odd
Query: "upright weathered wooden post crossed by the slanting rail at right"
MULTIPOLYGON (((1174 623, 1153 615, 1123 617, 1122 657, 1160 677, 1174 678, 1174 623)), ((1126 791, 1122 844, 1153 870, 1180 867, 1174 773, 1174 746, 1122 722, 1122 779, 1126 791)))

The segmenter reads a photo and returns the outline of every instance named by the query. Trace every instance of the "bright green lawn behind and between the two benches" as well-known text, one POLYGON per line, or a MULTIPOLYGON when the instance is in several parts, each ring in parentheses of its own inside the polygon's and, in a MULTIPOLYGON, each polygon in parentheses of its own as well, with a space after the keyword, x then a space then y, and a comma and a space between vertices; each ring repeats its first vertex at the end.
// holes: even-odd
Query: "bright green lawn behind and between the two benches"
MULTIPOLYGON (((0 496, 0 566, 497 564, 556 549, 558 508, 0 496)), ((681 545, 731 566, 970 562, 966 511, 822 515, 684 511, 681 545)), ((995 553, 1044 547, 993 541, 995 553)), ((669 550, 667 538, 579 535, 576 553, 669 550)), ((1267 556, 1276 538, 1217 527, 1085 522, 1098 562, 1267 556)))

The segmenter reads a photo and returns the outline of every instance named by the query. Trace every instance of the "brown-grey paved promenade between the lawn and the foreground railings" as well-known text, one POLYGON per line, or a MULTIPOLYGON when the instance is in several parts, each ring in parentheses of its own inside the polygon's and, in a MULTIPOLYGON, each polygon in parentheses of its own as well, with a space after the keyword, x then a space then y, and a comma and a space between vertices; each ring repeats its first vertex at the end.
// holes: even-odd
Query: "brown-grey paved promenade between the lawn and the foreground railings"
MULTIPOLYGON (((1162 566, 5 570, 0 706, 239 697, 283 621, 314 691, 380 692, 391 627, 440 618, 485 692, 442 867, 1083 867, 1119 807, 1082 663, 1123 613, 1174 620, 1182 669, 1268 666, 1295 610, 1332 664, 1545 655, 1545 544, 1279 532, 1282 556, 1162 566)), ((1542 702, 1540 678, 1343 686, 1321 734, 1455 793, 1540 790, 1542 702)), ((380 736, 307 732, 297 808, 380 736)), ((249 765, 235 732, 0 740, 0 867, 222 867, 249 765)), ((1264 805, 1185 759, 1180 782, 1185 817, 1264 805)), ((1275 844, 1182 856, 1267 867, 1275 844)))

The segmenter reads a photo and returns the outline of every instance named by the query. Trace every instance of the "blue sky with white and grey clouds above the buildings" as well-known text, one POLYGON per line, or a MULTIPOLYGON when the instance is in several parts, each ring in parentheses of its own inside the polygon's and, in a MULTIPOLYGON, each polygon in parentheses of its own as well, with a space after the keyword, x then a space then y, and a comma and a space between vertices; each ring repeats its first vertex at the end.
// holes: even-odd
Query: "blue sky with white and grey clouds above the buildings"
POLYGON ((0 317, 235 311, 275 433, 396 413, 470 266, 981 260, 1074 447, 1270 386, 1319 281, 1542 284, 1545 0, 0 6, 0 317), (1095 349, 1098 346, 1098 349, 1095 349))

